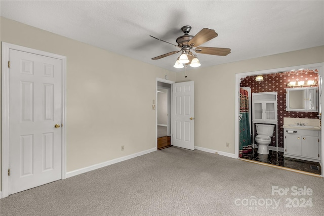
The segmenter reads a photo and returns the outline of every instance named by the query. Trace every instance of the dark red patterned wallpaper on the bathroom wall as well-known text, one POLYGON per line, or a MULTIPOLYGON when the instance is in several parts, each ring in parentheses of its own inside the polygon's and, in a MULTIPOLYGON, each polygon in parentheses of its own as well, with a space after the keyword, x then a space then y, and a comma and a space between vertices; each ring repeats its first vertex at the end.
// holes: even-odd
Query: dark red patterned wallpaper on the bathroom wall
MULTIPOLYGON (((286 111, 286 84, 290 81, 315 80, 317 86, 318 74, 313 70, 286 71, 280 73, 262 74, 263 81, 256 81, 254 76, 247 76, 240 82, 240 87, 250 87, 252 93, 277 92, 278 97, 278 147, 284 147, 284 117, 292 118, 318 118, 317 112, 287 112, 286 111)), ((273 136, 270 146, 276 146, 276 138, 273 136)))

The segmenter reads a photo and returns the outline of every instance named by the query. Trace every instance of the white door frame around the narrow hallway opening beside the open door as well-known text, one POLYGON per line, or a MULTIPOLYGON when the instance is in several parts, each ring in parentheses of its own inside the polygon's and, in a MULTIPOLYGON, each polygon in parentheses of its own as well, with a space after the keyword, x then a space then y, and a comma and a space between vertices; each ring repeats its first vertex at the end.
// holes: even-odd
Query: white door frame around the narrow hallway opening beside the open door
MULTIPOLYGON (((155 108, 155 146, 156 146, 156 149, 157 149, 157 82, 164 82, 164 83, 168 83, 168 84, 171 84, 171 88, 170 88, 170 104, 168 104, 168 110, 170 108, 170 136, 171 136, 171 145, 173 145, 173 125, 172 125, 172 122, 173 122, 173 98, 172 98, 172 84, 175 83, 175 81, 172 81, 172 80, 168 80, 168 79, 162 79, 162 78, 158 78, 156 77, 156 82, 155 82, 155 102, 156 102, 156 108, 155 108)), ((154 104, 154 103, 153 103, 154 104)))

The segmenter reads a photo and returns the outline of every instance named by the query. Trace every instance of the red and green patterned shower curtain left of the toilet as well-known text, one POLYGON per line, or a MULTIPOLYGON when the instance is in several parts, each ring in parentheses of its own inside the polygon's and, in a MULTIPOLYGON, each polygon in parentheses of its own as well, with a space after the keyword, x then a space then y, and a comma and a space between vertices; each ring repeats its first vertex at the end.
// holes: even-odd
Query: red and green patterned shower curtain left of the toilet
POLYGON ((239 157, 242 154, 252 151, 251 132, 249 120, 249 92, 245 89, 239 89, 239 157))

